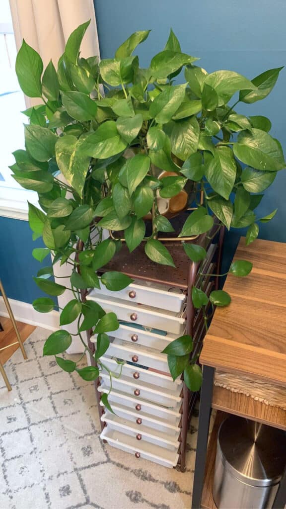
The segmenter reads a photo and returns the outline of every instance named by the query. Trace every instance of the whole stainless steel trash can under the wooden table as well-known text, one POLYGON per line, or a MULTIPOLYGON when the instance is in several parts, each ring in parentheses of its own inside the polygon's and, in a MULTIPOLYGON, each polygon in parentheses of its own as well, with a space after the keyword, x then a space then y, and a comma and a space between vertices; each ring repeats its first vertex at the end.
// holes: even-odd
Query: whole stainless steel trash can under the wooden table
POLYGON ((271 508, 286 463, 286 434, 234 415, 217 437, 213 497, 219 509, 271 508))

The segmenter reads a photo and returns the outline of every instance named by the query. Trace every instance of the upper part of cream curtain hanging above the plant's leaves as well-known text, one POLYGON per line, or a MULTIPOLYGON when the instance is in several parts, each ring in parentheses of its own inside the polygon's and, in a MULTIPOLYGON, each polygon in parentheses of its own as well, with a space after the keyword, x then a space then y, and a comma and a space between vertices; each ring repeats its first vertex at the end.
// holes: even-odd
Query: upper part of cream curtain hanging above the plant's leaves
MULTIPOLYGON (((44 68, 56 68, 65 44, 78 25, 91 19, 81 43, 81 56, 99 56, 93 0, 10 0, 17 50, 25 39, 41 55, 44 68)), ((40 99, 28 98, 29 105, 40 99)))

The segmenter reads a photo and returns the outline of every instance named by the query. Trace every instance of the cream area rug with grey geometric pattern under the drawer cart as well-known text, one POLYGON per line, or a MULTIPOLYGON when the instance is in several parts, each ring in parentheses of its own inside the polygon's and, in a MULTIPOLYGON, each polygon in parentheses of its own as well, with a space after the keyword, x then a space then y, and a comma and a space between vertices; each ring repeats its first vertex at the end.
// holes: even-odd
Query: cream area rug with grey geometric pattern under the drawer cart
POLYGON ((189 508, 197 414, 185 473, 102 443, 93 384, 42 357, 47 336, 37 328, 25 342, 28 360, 18 350, 7 362, 11 392, 0 379, 0 507, 189 508))

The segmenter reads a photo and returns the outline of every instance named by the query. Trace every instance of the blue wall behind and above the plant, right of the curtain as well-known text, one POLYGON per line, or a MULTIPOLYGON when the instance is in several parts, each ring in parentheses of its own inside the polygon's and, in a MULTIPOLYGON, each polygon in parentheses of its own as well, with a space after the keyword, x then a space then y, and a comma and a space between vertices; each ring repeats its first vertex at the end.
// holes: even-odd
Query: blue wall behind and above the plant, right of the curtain
MULTIPOLYGON (((112 58, 116 48, 136 30, 152 29, 136 54, 141 67, 164 47, 170 26, 182 51, 200 56, 198 65, 208 72, 230 69, 252 79, 267 69, 286 64, 285 0, 95 0, 101 58, 112 58)), ((286 69, 264 101, 241 104, 236 110, 246 115, 265 115, 272 122, 271 134, 279 138, 286 154, 285 135, 286 69)), ((260 237, 286 242, 286 171, 277 175, 258 210, 275 218, 261 224, 260 237)), ((239 237, 245 231, 230 232, 225 241, 225 261, 230 261, 239 237)))

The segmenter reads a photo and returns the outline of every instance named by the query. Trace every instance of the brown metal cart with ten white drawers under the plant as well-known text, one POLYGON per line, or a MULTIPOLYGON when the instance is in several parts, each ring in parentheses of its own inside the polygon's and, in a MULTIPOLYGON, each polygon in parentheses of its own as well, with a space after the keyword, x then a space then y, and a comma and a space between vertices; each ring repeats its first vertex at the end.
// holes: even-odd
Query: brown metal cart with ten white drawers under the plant
MULTIPOLYGON (((108 411, 101 401, 102 393, 108 392, 108 377, 106 378, 106 376, 102 374, 95 382, 96 397, 103 430, 102 438, 106 441, 109 440, 110 445, 113 446, 116 446, 116 440, 118 440, 118 447, 122 450, 133 452, 136 458, 145 457, 166 466, 167 463, 169 463, 170 466, 176 466, 180 468, 181 471, 185 470, 188 423, 198 393, 189 391, 183 379, 179 382, 179 385, 177 385, 177 390, 176 384, 178 384, 178 381, 174 382, 173 385, 171 378, 168 378, 168 366, 166 363, 166 356, 161 354, 164 347, 160 347, 162 343, 160 338, 165 337, 164 334, 166 333, 163 331, 168 331, 167 327, 169 321, 172 320, 172 308, 169 307, 169 311, 164 311, 165 304, 162 300, 163 296, 161 295, 160 297, 160 285, 164 285, 165 288, 169 289, 167 292, 168 295, 172 295, 173 292, 174 296, 175 291, 175 295, 184 296, 182 300, 182 302, 184 301, 182 315, 180 315, 180 318, 175 318, 175 320, 181 321, 181 333, 178 334, 177 331, 173 331, 172 337, 175 339, 183 333, 190 334, 194 342, 194 349, 191 355, 198 356, 202 349, 206 330, 202 312, 196 310, 193 306, 191 290, 201 279, 203 281, 203 288, 208 295, 212 289, 217 289, 218 277, 215 276, 220 271, 223 234, 224 229, 219 227, 219 223, 216 222, 208 235, 200 235, 197 239, 192 241, 192 243, 201 245, 207 250, 207 258, 203 262, 191 262, 186 256, 181 242, 169 242, 168 249, 174 259, 176 269, 153 263, 146 257, 144 245, 140 245, 131 254, 126 245, 123 245, 122 249, 113 257, 112 261, 103 269, 100 269, 100 272, 119 271, 129 275, 134 280, 132 288, 128 288, 126 293, 121 294, 120 298, 125 300, 117 300, 115 295, 102 296, 97 294, 96 291, 86 296, 87 299, 91 298, 98 301, 106 312, 114 310, 121 321, 120 327, 122 327, 122 329, 112 334, 115 337, 110 340, 111 343, 106 352, 107 357, 104 362, 109 363, 109 365, 111 363, 112 365, 112 359, 114 357, 122 358, 127 361, 127 364, 125 364, 123 368, 122 380, 113 381, 113 389, 110 394, 111 406, 112 404, 119 405, 118 408, 119 411, 121 411, 120 417, 115 417, 113 420, 110 419, 110 416, 108 417, 108 411), (201 275, 198 274, 199 272, 201 275), (210 272, 214 274, 214 276, 210 277, 210 272), (146 282, 148 282, 147 285, 146 282), (142 287, 140 285, 146 286, 142 287), (144 288, 148 288, 150 291, 147 303, 142 293, 140 295, 140 292, 144 292, 144 288), (181 290, 179 293, 178 288, 181 290), (151 295, 152 292, 153 296, 151 295), (154 295, 156 295, 155 300, 154 295), (137 299, 136 301, 133 300, 135 297, 137 299), (149 304, 151 307, 148 307, 149 304), (152 305, 155 307, 152 307, 152 305), (158 318, 160 316, 160 310, 164 313, 164 320, 158 318), (123 318, 120 318, 118 313, 122 313, 121 316, 123 316, 123 318), (152 315, 153 324, 151 328, 150 323, 148 323, 148 321, 150 322, 150 314, 152 315), (137 326, 139 326, 139 329, 134 330, 134 325, 136 324, 134 324, 132 320, 137 319, 137 326), (132 332, 128 332, 128 326, 131 327, 132 332), (140 329, 142 326, 146 327, 143 332, 140 329), (136 330, 138 331, 137 333, 136 330), (161 336, 158 335, 160 331, 161 333, 163 332, 161 336), (148 334, 149 337, 146 338, 148 334), (134 335, 136 336, 135 338, 133 337, 134 335), (155 341, 157 343, 155 343, 155 341), (131 360, 132 362, 130 362, 131 360), (158 362, 160 366, 163 367, 159 367, 158 362), (135 366, 137 366, 137 371, 135 366), (156 386, 156 378, 154 374, 152 375, 152 370, 154 372, 154 369, 158 373, 156 376, 158 377, 157 383, 159 383, 159 386, 156 386), (134 373, 132 370, 135 370, 134 373), (160 380, 162 376, 165 377, 164 381, 162 379, 160 380), (137 385, 134 385, 135 383, 137 385), (169 384, 171 384, 171 387, 169 384), (169 392, 166 391, 167 386, 169 387, 169 392), (148 392, 150 390, 153 392, 148 392), (171 407, 171 404, 173 404, 172 402, 175 402, 174 396, 176 397, 176 405, 171 407), (140 412, 142 412, 141 415, 140 412), (150 420, 150 418, 152 418, 152 412, 154 412, 155 420, 156 416, 159 416, 161 421, 157 420, 156 423, 152 424, 150 420), (174 454, 172 453, 173 460, 167 461, 164 457, 164 451, 161 449, 162 454, 160 456, 160 448, 158 449, 157 446, 164 442, 164 435, 161 432, 167 430, 172 424, 170 421, 170 418, 173 418, 171 417, 172 415, 175 419, 174 426, 176 430, 172 431, 172 433, 174 433, 176 439, 174 438, 173 442, 169 439, 171 444, 174 443, 174 454), (130 421, 133 423, 133 427, 130 425, 130 421), (150 427, 156 426, 156 429, 161 430, 161 432, 155 432, 154 434, 154 430, 151 430, 151 428, 148 430, 146 424, 150 427), (137 430, 137 432, 134 430, 137 430), (122 431, 126 433, 126 435, 129 434, 133 437, 133 442, 132 438, 124 437, 121 433, 122 431), (157 447, 157 459, 154 460, 152 460, 152 450, 150 451, 148 448, 148 440, 151 440, 148 438, 148 433, 149 435, 151 433, 153 434, 152 436, 158 437, 158 441, 156 441, 156 439, 155 441, 153 440, 154 447, 157 447), (117 436, 118 438, 116 438, 117 436), (115 440, 113 440, 114 437, 115 440), (134 441, 134 438, 140 440, 140 445, 147 444, 147 449, 144 450, 144 448, 142 448, 142 450, 139 450, 139 442, 136 448, 136 440, 134 441)), ((166 296, 164 298, 166 298, 166 296)), ((208 312, 209 316, 211 316, 212 310, 210 307, 208 312)), ((169 330, 169 332, 172 331, 169 330)), ((95 345, 90 340, 91 334, 89 334, 89 346, 95 351, 95 345)), ((170 340, 166 336, 164 341, 167 342, 170 340)), ((95 364, 93 357, 91 357, 91 361, 95 364)), ((167 440, 167 433, 165 436, 167 440)), ((171 447, 173 447, 173 445, 171 445, 171 447)))

